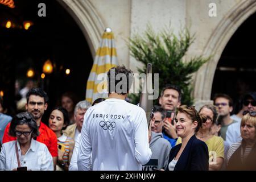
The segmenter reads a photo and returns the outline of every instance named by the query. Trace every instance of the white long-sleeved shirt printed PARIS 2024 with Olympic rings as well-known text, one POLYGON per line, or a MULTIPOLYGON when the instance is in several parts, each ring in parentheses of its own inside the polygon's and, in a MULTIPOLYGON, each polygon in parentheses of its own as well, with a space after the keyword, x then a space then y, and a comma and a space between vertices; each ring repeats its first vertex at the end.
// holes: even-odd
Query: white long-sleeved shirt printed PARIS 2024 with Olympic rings
POLYGON ((125 100, 109 98, 84 116, 78 169, 142 170, 151 157, 145 111, 125 100))

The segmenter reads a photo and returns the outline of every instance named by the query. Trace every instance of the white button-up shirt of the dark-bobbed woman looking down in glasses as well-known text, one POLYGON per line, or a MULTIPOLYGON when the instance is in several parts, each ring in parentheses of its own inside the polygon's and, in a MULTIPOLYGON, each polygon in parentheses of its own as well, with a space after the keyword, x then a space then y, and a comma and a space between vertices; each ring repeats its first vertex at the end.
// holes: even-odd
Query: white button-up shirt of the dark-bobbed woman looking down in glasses
POLYGON ((17 142, 20 166, 32 171, 53 171, 53 159, 45 144, 32 139, 30 148, 25 155, 21 155, 18 141, 3 144, 0 153, 0 170, 12 171, 18 167, 15 143, 17 142))

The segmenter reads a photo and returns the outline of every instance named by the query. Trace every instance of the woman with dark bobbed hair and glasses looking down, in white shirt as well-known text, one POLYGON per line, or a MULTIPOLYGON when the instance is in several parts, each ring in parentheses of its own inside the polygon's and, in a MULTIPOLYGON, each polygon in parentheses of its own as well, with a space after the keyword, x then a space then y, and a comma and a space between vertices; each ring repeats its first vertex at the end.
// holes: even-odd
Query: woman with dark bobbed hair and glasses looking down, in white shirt
POLYGON ((15 115, 9 135, 15 141, 4 143, 0 154, 0 170, 53 171, 53 159, 45 144, 37 142, 38 126, 30 113, 15 115))

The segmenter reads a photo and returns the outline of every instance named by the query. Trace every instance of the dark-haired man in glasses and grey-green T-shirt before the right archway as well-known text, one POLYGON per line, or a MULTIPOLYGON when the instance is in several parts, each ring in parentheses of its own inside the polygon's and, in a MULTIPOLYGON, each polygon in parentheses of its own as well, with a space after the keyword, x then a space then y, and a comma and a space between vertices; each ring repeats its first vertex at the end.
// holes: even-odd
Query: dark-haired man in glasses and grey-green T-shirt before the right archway
POLYGON ((213 102, 218 109, 218 119, 221 123, 221 137, 226 140, 226 130, 228 126, 237 122, 230 118, 230 113, 233 111, 233 100, 226 94, 216 94, 213 98, 213 102))

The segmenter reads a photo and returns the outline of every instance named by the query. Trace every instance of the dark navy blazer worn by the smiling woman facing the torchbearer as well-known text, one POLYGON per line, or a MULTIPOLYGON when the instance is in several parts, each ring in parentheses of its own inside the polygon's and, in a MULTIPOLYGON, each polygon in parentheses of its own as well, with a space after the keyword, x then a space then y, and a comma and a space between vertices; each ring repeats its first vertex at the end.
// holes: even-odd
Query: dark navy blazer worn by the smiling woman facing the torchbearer
MULTIPOLYGON (((179 152, 181 143, 171 149, 169 163, 179 152)), ((167 166, 167 170, 168 166, 167 166)), ((207 144, 193 135, 185 146, 176 163, 174 171, 208 171, 209 170, 209 152, 207 144)))

